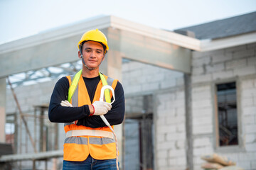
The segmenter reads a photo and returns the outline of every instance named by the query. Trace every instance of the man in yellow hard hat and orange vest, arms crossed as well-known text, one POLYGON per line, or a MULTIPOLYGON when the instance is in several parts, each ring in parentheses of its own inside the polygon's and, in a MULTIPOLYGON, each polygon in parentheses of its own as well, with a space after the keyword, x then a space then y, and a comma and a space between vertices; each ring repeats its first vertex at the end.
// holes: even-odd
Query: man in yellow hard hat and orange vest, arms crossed
POLYGON ((59 79, 50 98, 49 120, 65 123, 63 169, 117 169, 114 138, 100 115, 105 115, 110 125, 122 123, 122 84, 117 79, 100 76, 100 64, 109 50, 107 38, 100 30, 89 30, 82 35, 78 49, 78 57, 82 60, 80 75, 59 79), (78 83, 71 94, 75 79, 78 83), (112 104, 99 100, 104 79, 114 89, 112 104))

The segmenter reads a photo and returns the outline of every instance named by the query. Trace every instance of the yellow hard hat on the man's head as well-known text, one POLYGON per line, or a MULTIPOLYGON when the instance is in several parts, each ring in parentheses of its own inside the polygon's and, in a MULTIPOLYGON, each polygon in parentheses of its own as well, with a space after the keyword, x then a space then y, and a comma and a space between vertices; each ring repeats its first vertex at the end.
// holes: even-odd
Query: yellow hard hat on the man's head
POLYGON ((81 40, 78 42, 78 49, 80 50, 80 47, 82 46, 82 42, 84 41, 95 41, 95 42, 100 42, 103 45, 106 46, 106 51, 109 50, 109 47, 107 45, 107 38, 104 35, 104 33, 102 33, 100 30, 96 29, 96 30, 88 30, 86 33, 84 33, 82 35, 81 40))

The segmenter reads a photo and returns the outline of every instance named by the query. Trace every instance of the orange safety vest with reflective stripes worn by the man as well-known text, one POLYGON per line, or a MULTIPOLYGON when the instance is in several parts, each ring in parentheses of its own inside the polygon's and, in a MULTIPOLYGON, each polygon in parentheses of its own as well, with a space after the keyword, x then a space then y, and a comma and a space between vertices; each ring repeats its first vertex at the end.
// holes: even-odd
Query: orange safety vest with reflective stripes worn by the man
MULTIPOLYGON (((69 84, 71 84, 74 76, 68 76, 69 84)), ((117 79, 112 79, 105 76, 107 84, 111 84, 115 89, 117 86, 117 79)), ((95 96, 93 101, 100 100, 100 91, 102 89, 102 80, 97 84, 95 96)), ((112 93, 110 92, 112 97, 112 93)), ((87 92, 85 81, 82 75, 78 81, 78 86, 75 89, 73 97, 70 101, 73 107, 80 107, 83 105, 91 105, 90 97, 87 92)), ((112 127, 113 128, 113 127, 112 127)), ((64 130, 66 138, 64 142, 64 155, 65 161, 82 162, 87 159, 90 154, 94 159, 115 159, 116 158, 116 144, 112 131, 107 126, 102 128, 90 128, 84 125, 75 125, 74 123, 65 123, 64 130), (77 133, 78 132, 78 133, 77 133), (84 132, 85 135, 80 132, 84 132)))

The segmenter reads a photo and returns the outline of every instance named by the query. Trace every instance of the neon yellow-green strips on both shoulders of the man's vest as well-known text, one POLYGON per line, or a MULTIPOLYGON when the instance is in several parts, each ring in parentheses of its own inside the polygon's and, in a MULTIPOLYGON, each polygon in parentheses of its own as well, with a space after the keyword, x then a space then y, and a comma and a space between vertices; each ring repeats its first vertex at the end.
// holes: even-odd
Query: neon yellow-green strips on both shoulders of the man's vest
MULTIPOLYGON (((77 89, 77 87, 78 87, 78 81, 80 79, 81 74, 82 74, 82 69, 75 74, 75 77, 73 78, 73 80, 71 82, 70 88, 68 89, 68 102, 71 101, 71 98, 72 98, 73 94, 75 93, 75 89, 77 89)), ((101 74, 100 72, 99 72, 99 74, 100 74, 100 79, 102 81, 102 85, 103 86, 107 85, 107 80, 105 79, 103 74, 101 74)), ((104 96, 105 96, 106 102, 111 103, 110 90, 106 89, 104 94, 105 94, 104 96)))

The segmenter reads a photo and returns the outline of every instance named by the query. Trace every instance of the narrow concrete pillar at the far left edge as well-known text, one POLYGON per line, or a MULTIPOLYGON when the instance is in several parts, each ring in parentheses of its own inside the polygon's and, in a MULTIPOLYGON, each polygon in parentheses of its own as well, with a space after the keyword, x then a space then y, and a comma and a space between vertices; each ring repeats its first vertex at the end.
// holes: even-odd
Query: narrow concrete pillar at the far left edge
POLYGON ((6 78, 0 79, 0 142, 5 140, 5 123, 6 123, 6 78))

